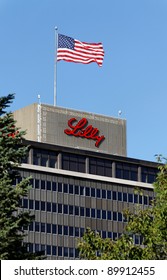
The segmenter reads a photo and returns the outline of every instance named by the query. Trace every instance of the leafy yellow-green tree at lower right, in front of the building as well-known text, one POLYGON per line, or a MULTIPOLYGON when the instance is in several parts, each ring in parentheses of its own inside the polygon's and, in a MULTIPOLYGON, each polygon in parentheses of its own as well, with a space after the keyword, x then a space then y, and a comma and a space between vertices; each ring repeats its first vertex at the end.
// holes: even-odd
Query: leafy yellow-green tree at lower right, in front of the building
POLYGON ((103 260, 166 260, 167 259, 167 164, 159 166, 154 185, 155 198, 147 209, 137 207, 135 213, 127 209, 123 234, 117 240, 102 239, 87 229, 78 243, 81 259, 103 260), (133 235, 142 238, 135 245, 133 235))

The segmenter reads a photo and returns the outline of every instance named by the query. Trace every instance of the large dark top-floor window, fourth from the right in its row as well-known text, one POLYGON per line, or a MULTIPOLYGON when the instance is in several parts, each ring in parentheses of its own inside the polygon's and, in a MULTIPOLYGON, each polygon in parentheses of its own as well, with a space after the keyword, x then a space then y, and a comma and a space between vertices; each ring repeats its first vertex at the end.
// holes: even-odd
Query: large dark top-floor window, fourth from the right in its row
POLYGON ((62 154, 62 169, 85 173, 86 157, 73 154, 62 154))

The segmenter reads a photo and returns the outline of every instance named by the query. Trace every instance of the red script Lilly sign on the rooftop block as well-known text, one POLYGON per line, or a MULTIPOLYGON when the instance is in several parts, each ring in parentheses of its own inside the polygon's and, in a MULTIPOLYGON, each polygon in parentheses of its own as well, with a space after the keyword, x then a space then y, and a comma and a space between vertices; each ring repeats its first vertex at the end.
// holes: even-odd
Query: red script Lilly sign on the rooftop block
POLYGON ((67 135, 73 135, 75 137, 82 137, 86 139, 95 140, 95 146, 98 147, 100 143, 105 139, 104 135, 99 135, 99 130, 92 125, 88 125, 88 120, 86 118, 77 121, 76 118, 72 118, 68 121, 68 126, 71 129, 65 129, 64 133, 67 135), (74 124, 77 122, 76 124, 74 124))

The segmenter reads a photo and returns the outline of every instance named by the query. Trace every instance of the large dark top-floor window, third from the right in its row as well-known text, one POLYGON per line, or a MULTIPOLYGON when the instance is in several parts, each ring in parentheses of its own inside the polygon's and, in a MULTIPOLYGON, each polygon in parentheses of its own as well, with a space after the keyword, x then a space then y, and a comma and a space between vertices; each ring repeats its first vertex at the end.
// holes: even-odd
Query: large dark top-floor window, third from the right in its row
POLYGON ((112 177, 112 162, 107 159, 90 158, 89 173, 112 177))

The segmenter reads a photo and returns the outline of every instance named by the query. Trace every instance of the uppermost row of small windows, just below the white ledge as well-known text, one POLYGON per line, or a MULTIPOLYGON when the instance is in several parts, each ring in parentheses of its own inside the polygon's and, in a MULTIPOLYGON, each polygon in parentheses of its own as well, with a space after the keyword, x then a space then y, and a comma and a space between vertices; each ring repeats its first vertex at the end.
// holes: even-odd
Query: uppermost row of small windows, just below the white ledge
POLYGON ((39 179, 31 179, 30 184, 35 189, 58 191, 60 193, 94 197, 97 199, 117 200, 121 202, 129 202, 144 205, 151 205, 153 200, 152 196, 96 189, 93 187, 84 187, 72 184, 56 183, 39 179))

